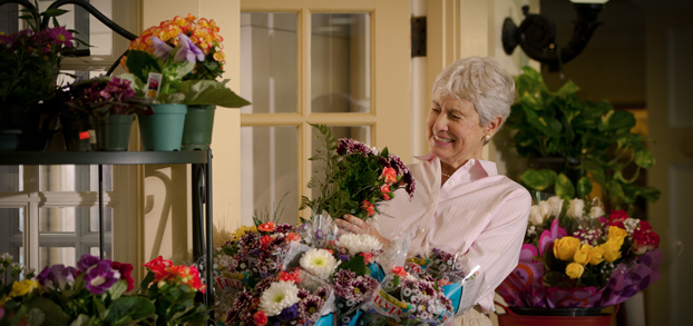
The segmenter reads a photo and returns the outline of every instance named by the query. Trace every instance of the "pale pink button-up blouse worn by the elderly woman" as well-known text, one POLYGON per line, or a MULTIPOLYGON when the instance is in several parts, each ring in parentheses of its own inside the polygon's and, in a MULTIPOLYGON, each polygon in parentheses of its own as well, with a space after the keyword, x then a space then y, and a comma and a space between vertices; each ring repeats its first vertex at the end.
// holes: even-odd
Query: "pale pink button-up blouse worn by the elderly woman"
POLYGON ((499 176, 496 164, 477 159, 440 187, 440 160, 430 154, 417 159, 423 161, 410 167, 413 198, 396 192, 372 224, 389 239, 416 233, 410 255, 420 248, 463 253, 468 265, 481 267, 477 304, 485 313, 495 312, 494 292, 517 266, 531 207, 529 192, 499 176))

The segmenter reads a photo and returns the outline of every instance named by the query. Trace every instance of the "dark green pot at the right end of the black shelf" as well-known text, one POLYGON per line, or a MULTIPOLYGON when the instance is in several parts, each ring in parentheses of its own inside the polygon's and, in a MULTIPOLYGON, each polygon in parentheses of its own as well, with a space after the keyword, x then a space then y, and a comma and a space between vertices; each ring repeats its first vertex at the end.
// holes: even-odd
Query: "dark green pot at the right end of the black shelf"
POLYGON ((216 106, 188 106, 183 129, 182 150, 208 150, 216 106))

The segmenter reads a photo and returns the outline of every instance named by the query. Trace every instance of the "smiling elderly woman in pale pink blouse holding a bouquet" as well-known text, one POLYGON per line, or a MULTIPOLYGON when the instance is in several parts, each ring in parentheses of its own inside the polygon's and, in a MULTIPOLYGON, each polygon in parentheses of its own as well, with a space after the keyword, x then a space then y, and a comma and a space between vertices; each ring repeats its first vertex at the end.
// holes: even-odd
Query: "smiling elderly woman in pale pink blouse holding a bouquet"
POLYGON ((433 83, 426 120, 430 151, 410 167, 417 181, 413 199, 397 196, 370 225, 350 215, 338 220, 344 229, 384 243, 416 233, 409 254, 440 248, 479 265, 477 307, 456 317, 456 325, 491 325, 479 309, 495 310, 494 290, 516 267, 525 236, 529 192, 498 175, 494 162, 481 159, 484 146, 509 116, 514 99, 515 82, 495 59, 452 62, 433 83))

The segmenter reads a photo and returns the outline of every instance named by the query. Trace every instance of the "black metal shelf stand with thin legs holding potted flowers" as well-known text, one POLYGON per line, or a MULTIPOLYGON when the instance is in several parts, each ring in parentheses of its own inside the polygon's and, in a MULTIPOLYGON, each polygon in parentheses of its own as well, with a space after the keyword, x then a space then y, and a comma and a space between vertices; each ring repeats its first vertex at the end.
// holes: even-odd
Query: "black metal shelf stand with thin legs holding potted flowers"
MULTIPOLYGON (((104 259, 104 165, 193 165, 193 255, 212 257, 212 150, 207 151, 7 151, 0 165, 98 165, 99 251, 104 259), (204 211, 204 213, 203 213, 204 211)), ((214 303, 214 260, 206 259, 205 304, 214 303)))

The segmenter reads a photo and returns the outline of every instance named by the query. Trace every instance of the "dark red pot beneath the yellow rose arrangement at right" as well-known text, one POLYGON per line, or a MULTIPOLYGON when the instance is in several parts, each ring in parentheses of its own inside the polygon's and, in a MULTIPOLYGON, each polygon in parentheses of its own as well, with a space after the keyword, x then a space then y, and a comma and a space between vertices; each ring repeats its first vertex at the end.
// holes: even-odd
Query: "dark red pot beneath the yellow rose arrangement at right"
POLYGON ((601 308, 508 308, 498 303, 496 304, 501 306, 506 310, 505 315, 498 315, 499 326, 611 326, 612 319, 614 318, 616 313, 618 313, 618 305, 616 305, 614 314, 603 314, 601 308), (513 309, 515 309, 515 312, 513 309), (598 315, 589 316, 588 314, 598 315))

